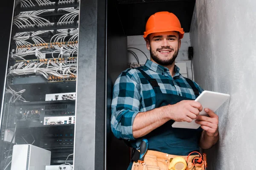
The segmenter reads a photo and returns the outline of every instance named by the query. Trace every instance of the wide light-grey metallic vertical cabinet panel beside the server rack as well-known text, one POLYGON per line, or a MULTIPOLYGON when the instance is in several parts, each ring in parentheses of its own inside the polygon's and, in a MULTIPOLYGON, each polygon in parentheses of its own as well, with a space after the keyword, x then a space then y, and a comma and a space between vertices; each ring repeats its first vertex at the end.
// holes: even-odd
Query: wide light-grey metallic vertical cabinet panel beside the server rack
POLYGON ((76 99, 75 170, 94 170, 97 1, 81 0, 76 99))

